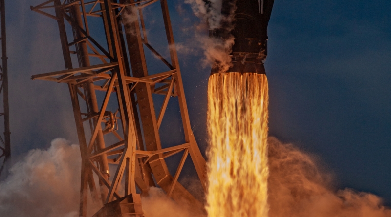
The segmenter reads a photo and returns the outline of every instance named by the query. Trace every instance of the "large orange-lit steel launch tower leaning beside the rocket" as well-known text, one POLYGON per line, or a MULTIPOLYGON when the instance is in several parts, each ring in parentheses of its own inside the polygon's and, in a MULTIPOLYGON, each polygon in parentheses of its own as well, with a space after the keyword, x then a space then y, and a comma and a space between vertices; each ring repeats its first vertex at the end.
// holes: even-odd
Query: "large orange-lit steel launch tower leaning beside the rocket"
POLYGON ((79 215, 87 216, 92 197, 102 206, 96 217, 141 217, 138 193, 147 195, 151 186, 203 210, 178 182, 190 155, 205 190, 206 162, 190 125, 167 0, 48 0, 31 10, 58 24, 65 70, 31 79, 68 85, 82 157, 79 215), (143 9, 158 3, 170 59, 147 39, 143 9), (103 30, 99 34, 92 30, 97 25, 103 30), (102 36, 105 43, 98 42, 102 36), (148 70, 145 52, 164 67, 148 70), (163 95, 163 102, 154 95, 163 95), (184 141, 163 148, 159 128, 172 97, 179 102, 184 141), (165 159, 179 153, 172 176, 165 159), (116 167, 113 172, 109 164, 116 167))

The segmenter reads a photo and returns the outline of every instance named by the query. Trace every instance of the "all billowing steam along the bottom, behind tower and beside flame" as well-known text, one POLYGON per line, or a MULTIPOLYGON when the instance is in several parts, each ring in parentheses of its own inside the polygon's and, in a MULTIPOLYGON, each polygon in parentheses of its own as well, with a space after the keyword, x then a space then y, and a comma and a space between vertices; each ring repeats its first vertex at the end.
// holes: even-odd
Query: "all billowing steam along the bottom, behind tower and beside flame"
MULTIPOLYGON (((379 197, 345 189, 292 144, 269 138, 269 217, 391 217, 379 197)), ((48 150, 31 150, 0 183, 0 213, 8 217, 77 217, 80 187, 78 145, 57 138, 48 150)), ((145 217, 191 217, 160 189, 142 198, 145 217)), ((91 215, 90 213, 89 215, 91 215)))

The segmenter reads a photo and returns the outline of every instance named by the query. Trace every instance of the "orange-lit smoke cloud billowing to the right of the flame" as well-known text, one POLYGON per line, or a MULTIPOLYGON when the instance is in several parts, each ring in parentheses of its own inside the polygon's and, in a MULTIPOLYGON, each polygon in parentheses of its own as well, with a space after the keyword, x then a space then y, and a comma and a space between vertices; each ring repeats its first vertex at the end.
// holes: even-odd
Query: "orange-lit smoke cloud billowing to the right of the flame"
POLYGON ((370 193, 334 191, 316 159, 292 144, 270 137, 269 217, 391 217, 391 210, 370 193))

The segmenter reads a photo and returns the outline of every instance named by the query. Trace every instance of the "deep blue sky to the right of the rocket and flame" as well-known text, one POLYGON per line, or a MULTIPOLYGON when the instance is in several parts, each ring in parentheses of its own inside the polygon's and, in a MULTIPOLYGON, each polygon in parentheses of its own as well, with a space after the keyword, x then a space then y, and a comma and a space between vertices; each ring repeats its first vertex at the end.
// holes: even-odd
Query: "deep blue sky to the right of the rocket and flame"
POLYGON ((391 202, 391 5, 276 0, 270 134, 321 157, 339 187, 391 202))

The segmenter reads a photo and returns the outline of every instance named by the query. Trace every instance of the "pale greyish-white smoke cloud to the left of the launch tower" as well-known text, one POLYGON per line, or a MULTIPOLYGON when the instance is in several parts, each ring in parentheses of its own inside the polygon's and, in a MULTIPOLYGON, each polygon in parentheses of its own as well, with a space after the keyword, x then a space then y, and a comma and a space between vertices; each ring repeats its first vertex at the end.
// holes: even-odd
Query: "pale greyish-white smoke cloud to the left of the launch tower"
POLYGON ((31 150, 0 183, 0 213, 9 217, 77 217, 80 149, 63 138, 31 150))

